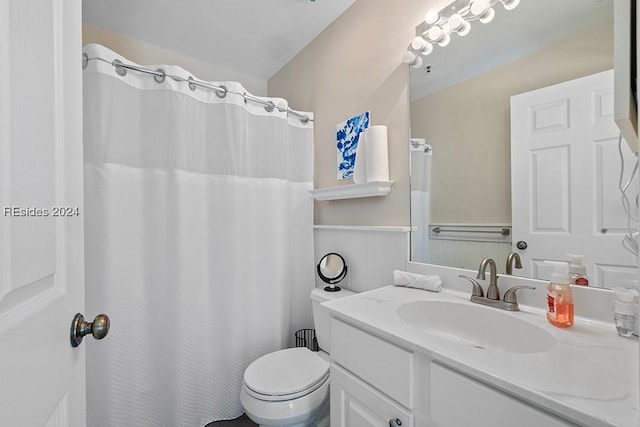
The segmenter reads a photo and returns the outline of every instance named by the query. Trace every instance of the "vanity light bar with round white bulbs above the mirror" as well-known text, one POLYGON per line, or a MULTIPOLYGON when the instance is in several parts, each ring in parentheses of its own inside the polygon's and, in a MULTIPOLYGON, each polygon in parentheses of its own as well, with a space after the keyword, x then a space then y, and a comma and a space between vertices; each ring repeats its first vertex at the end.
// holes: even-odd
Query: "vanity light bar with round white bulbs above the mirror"
POLYGON ((513 10, 520 0, 454 0, 447 7, 430 9, 424 22, 416 27, 416 37, 402 56, 404 63, 414 68, 422 66, 420 55, 433 52, 433 44, 445 47, 451 41, 451 34, 466 36, 471 31, 471 22, 488 24, 495 17, 494 6, 501 3, 506 10, 513 10))

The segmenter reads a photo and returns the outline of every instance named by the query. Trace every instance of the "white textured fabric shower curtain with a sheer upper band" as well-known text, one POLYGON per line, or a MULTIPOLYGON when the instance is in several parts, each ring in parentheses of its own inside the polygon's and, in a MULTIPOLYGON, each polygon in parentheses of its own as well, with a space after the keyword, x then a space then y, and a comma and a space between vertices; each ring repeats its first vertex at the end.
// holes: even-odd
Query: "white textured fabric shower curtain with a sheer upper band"
POLYGON ((87 424, 234 418, 248 364, 312 324, 313 122, 84 52, 86 314, 112 322, 87 424))

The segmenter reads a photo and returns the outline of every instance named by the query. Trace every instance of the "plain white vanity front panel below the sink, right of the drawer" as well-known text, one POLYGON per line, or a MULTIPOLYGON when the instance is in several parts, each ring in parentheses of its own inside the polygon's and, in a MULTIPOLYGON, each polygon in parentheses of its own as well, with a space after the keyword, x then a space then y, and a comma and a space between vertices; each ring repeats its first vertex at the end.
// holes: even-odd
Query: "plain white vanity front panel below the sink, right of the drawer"
POLYGON ((436 363, 431 364, 430 402, 431 419, 439 427, 576 427, 436 363))

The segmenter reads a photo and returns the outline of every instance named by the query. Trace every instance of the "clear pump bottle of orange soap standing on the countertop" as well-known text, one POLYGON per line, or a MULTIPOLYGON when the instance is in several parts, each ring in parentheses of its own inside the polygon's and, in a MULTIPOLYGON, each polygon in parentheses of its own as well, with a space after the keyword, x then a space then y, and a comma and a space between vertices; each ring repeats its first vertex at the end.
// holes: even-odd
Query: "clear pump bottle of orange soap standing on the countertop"
POLYGON ((566 262, 547 261, 553 271, 547 287, 547 320, 558 328, 573 326, 573 294, 566 262))

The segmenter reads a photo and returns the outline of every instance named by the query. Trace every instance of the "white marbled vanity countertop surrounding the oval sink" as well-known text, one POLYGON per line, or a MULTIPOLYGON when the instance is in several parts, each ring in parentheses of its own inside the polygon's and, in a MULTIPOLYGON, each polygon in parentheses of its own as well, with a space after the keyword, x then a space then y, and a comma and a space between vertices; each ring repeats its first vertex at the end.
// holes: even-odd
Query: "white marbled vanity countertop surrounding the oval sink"
POLYGON ((543 353, 508 353, 429 334, 396 313, 406 302, 429 299, 472 304, 468 293, 387 286, 324 305, 334 317, 574 422, 640 426, 638 341, 619 337, 613 323, 576 317, 572 328, 560 329, 548 323, 543 310, 521 305, 520 312, 505 314, 539 325, 557 342, 543 353))

